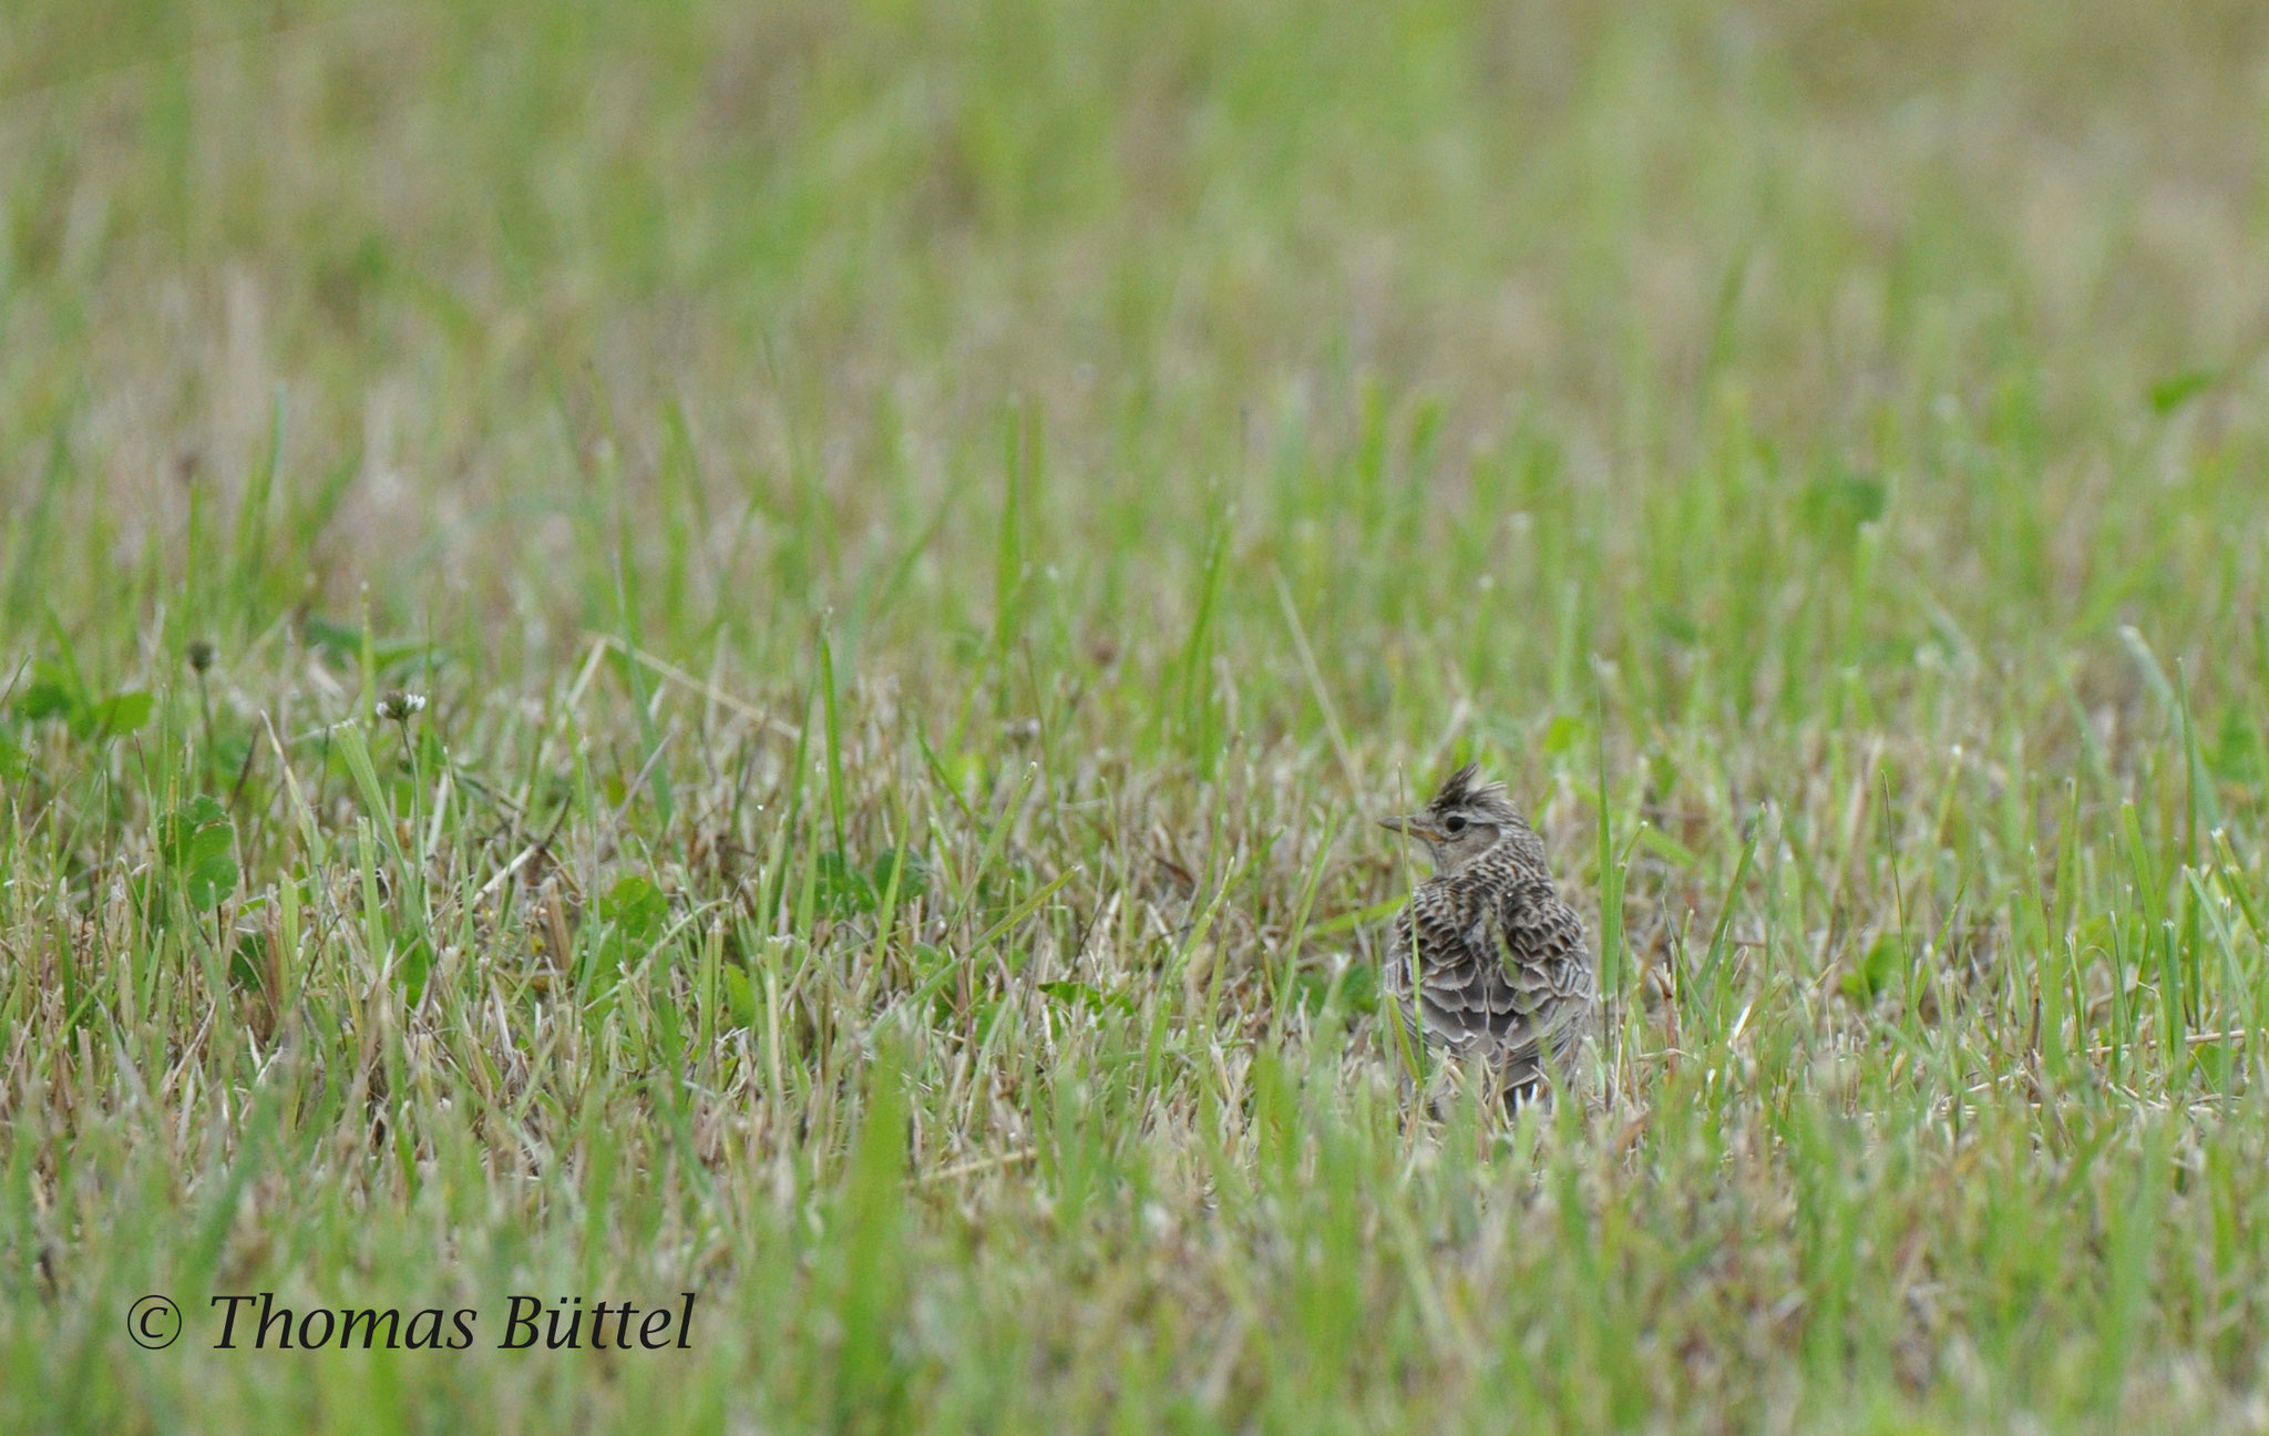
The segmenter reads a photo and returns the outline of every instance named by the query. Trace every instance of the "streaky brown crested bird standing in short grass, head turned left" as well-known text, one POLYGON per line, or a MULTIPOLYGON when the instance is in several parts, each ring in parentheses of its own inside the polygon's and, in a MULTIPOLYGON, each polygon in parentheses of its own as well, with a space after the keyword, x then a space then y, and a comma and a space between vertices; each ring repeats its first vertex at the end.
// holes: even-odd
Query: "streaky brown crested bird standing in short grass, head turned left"
POLYGON ((1536 828, 1466 765, 1418 812, 1380 819, 1423 842, 1434 873, 1395 914, 1386 987, 1425 1041, 1479 1059, 1509 1109, 1593 1025, 1597 975, 1584 919, 1559 896, 1536 828))

